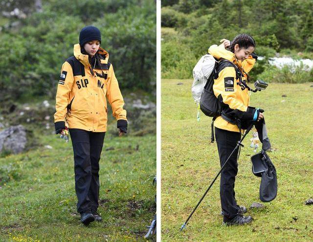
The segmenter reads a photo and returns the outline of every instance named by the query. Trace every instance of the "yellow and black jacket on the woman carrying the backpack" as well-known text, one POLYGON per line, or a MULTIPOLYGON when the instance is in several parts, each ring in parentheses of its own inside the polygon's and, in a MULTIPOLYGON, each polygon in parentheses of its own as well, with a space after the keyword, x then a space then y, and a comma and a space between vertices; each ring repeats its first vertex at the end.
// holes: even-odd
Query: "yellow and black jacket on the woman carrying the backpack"
POLYGON ((213 84, 214 95, 222 105, 222 115, 216 118, 214 126, 223 130, 239 132, 238 126, 230 123, 229 120, 253 119, 255 108, 249 107, 250 94, 242 82, 246 82, 246 73, 251 70, 256 60, 249 56, 249 59, 243 62, 238 61, 234 53, 224 48, 224 44, 210 46, 208 53, 218 60, 228 60, 239 68, 235 69, 229 62, 222 62, 217 66, 213 84))

